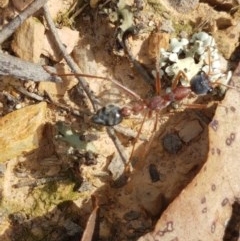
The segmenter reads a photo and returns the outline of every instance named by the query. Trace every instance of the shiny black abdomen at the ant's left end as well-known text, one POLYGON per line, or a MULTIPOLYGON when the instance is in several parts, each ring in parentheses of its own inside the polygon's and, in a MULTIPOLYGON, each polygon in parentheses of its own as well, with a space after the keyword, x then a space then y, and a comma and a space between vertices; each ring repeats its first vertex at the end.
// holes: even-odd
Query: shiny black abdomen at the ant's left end
POLYGON ((115 105, 104 106, 97 111, 92 117, 92 121, 96 124, 104 126, 115 126, 122 122, 123 116, 121 108, 115 105))

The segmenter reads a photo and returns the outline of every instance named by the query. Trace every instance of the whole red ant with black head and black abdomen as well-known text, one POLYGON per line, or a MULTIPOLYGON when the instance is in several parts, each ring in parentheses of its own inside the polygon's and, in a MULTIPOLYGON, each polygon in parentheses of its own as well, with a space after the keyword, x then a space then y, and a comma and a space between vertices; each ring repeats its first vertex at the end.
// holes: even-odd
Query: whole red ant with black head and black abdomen
MULTIPOLYGON (((209 53, 210 56, 210 53, 209 53)), ((159 64, 159 60, 157 61, 157 64, 159 64)), ((107 77, 99 77, 94 75, 88 75, 88 74, 63 74, 63 76, 82 76, 82 77, 90 77, 90 78, 99 78, 108 80, 112 83, 114 83, 116 86, 118 86, 120 89, 124 90, 126 93, 128 93, 130 96, 132 96, 135 101, 131 103, 129 106, 124 107, 118 107, 115 105, 108 105, 104 106, 101 109, 99 109, 96 114, 92 117, 92 121, 96 124, 101 124, 105 126, 114 126, 118 125, 122 122, 124 118, 128 118, 129 116, 137 115, 139 113, 143 113, 143 119, 140 124, 140 128, 138 130, 137 136, 135 138, 135 142, 132 147, 132 151, 130 154, 129 160, 131 160, 135 145, 137 140, 139 139, 139 136, 141 134, 144 122, 147 117, 151 117, 153 112, 156 113, 155 115, 155 122, 154 122, 154 128, 152 132, 154 132, 157 129, 157 123, 158 123, 158 117, 160 111, 168 107, 172 102, 175 101, 181 101, 185 99, 187 96, 189 96, 190 93, 194 93, 196 95, 207 95, 213 92, 213 85, 214 84, 221 84, 212 83, 210 81, 210 71, 211 71, 211 61, 209 57, 209 71, 208 73, 205 73, 203 70, 198 72, 195 76, 193 76, 189 81, 189 86, 183 86, 179 84, 181 78, 184 78, 188 81, 188 77, 184 73, 184 71, 179 70, 178 74, 174 77, 174 80, 172 82, 171 91, 166 93, 161 93, 161 80, 160 80, 160 71, 157 67, 157 73, 155 78, 155 96, 147 99, 141 98, 138 94, 136 94, 134 91, 128 89, 127 87, 121 85, 119 82, 109 79, 107 77)), ((62 75, 61 75, 62 76, 62 75)), ((226 87, 234 88, 232 86, 225 85, 226 87)), ((191 105, 187 105, 190 106, 191 105)), ((200 108, 197 105, 192 105, 193 108, 200 108)))

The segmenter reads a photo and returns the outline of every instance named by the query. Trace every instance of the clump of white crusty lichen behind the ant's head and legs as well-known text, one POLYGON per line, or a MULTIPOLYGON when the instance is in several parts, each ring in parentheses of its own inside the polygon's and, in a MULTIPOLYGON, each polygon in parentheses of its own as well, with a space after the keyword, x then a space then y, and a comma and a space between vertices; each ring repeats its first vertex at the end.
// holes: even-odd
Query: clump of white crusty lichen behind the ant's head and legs
POLYGON ((180 78, 183 86, 188 87, 190 80, 203 71, 212 83, 227 84, 231 72, 227 71, 227 61, 219 53, 214 38, 206 32, 186 38, 172 38, 169 48, 160 49, 160 75, 174 80, 180 71, 185 77, 180 78))

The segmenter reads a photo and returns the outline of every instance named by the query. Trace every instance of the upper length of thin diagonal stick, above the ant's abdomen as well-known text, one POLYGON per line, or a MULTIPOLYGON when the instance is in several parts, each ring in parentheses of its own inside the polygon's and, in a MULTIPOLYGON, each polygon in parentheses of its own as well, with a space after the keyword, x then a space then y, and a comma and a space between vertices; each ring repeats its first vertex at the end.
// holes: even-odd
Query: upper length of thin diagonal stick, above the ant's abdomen
MULTIPOLYGON (((50 16, 47 4, 45 4, 43 6, 43 10, 44 10, 44 17, 47 21, 48 27, 53 35, 53 38, 55 40, 55 43, 57 45, 57 47, 59 48, 59 50, 61 51, 61 53, 63 54, 63 58, 66 60, 67 64, 69 65, 69 67, 71 68, 73 73, 82 73, 81 70, 79 69, 79 67, 77 66, 77 64, 74 62, 74 60, 72 59, 72 57, 67 53, 66 48, 64 47, 64 45, 62 44, 57 29, 54 25, 54 22, 50 16)), ((76 76, 76 78, 78 79, 78 84, 81 86, 81 88, 85 91, 85 93, 87 94, 94 111, 97 111, 97 98, 93 95, 92 91, 90 90, 88 83, 85 81, 84 78, 80 77, 80 76, 76 76)))

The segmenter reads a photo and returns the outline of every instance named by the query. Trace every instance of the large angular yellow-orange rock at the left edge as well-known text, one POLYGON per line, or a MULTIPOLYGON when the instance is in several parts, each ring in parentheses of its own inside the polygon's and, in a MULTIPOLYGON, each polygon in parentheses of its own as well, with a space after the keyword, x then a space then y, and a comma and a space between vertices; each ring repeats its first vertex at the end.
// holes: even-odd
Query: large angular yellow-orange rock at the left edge
POLYGON ((39 147, 47 104, 31 105, 0 119, 0 162, 5 162, 39 147))

